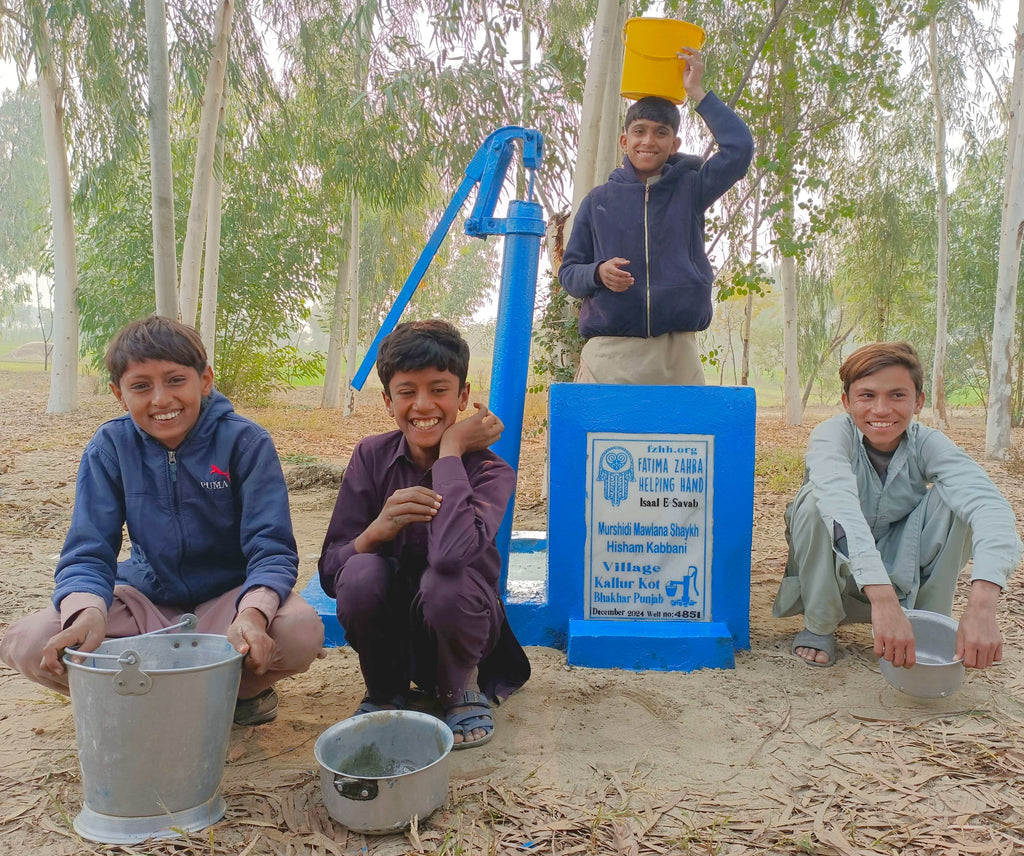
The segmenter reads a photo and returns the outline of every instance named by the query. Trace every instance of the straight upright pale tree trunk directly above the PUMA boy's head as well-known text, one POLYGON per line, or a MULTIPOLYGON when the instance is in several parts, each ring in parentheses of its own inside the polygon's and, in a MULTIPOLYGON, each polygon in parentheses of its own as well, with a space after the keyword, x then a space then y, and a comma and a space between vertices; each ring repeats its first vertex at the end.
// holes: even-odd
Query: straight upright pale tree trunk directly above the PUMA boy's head
POLYGON ((145 0, 145 41, 150 53, 150 186, 153 194, 153 276, 157 314, 176 318, 178 262, 174 238, 174 172, 168 110, 170 71, 164 0, 145 0))

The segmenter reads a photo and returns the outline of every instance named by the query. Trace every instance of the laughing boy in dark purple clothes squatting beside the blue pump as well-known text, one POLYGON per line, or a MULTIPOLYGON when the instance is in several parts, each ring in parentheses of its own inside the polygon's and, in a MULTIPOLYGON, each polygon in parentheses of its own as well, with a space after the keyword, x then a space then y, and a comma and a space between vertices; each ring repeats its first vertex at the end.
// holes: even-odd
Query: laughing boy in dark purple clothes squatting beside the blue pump
POLYGON ((495 544, 516 476, 487 450, 504 428, 497 416, 474 402, 456 421, 468 369, 469 346, 445 322, 402 324, 381 342, 398 430, 356 444, 319 559, 367 685, 356 715, 404 708, 412 681, 436 695, 456 748, 489 740, 490 700, 529 677, 495 544))

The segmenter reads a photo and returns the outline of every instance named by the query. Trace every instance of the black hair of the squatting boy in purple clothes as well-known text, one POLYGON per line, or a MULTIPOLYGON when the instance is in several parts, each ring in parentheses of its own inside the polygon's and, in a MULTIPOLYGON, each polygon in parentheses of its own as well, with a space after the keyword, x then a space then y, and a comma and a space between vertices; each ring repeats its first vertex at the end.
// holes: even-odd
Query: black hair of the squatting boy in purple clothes
POLYGON ((377 375, 390 397, 388 385, 396 372, 420 369, 451 372, 459 379, 459 389, 469 374, 469 345, 445 320, 434 318, 399 324, 381 341, 377 351, 377 375))

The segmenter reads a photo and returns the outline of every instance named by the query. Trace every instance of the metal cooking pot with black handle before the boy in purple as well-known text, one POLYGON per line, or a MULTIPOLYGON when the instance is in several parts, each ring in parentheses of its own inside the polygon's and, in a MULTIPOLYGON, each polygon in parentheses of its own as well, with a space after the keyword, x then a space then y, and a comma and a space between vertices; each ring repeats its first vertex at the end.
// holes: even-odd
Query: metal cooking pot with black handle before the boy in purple
POLYGON ((328 814, 375 834, 423 820, 447 799, 454 742, 451 728, 418 711, 375 711, 332 725, 313 746, 328 814))

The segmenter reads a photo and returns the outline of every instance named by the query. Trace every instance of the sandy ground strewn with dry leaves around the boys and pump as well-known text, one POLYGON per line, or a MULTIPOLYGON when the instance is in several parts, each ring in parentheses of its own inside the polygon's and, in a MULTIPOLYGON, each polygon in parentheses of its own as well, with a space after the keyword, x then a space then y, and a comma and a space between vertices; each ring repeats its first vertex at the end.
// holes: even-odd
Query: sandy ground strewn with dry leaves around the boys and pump
MULTIPOLYGON (((388 427, 373 395, 347 421, 315 402, 315 390, 300 390, 240 410, 271 430, 299 475, 313 460, 344 464, 358 437, 388 427)), ((83 379, 76 415, 48 416, 45 403, 41 373, 0 372, 0 632, 49 596, 81 448, 117 414, 95 379, 83 379)), ((799 470, 810 426, 830 412, 801 428, 759 416, 752 646, 735 670, 598 671, 530 648, 534 676, 497 712, 494 740, 453 754, 442 809, 404 834, 368 838, 332 822, 319 800, 313 742, 361 695, 354 655, 331 649, 280 685, 276 722, 233 730, 222 822, 176 842, 115 847, 71 828, 82 803, 69 703, 0 668, 0 853, 1024 852, 1022 577, 1000 605, 1004 665, 970 673, 947 699, 889 687, 866 628, 842 629, 839 662, 812 669, 788 652, 800 619, 770 617, 793 473, 782 489, 772 485, 778 470, 799 470)), ((527 414, 516 525, 544 528, 543 404, 527 414)), ((957 414, 950 433, 980 460, 981 418, 957 414)), ((984 466, 1024 518, 1021 458, 984 466)), ((291 497, 304 582, 335 490, 300 480, 310 485, 291 497)))

